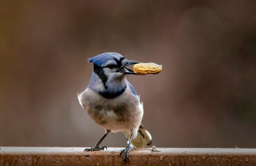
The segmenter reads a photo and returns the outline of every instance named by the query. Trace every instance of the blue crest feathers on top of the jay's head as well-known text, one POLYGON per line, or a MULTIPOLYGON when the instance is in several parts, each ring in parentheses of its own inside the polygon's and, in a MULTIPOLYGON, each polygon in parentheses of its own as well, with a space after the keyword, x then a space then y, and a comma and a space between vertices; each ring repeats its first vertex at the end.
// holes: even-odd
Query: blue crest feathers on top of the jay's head
POLYGON ((88 62, 91 62, 95 65, 101 66, 101 65, 103 65, 103 63, 105 63, 106 61, 113 59, 113 58, 116 58, 119 60, 120 58, 124 58, 124 57, 116 52, 106 52, 106 53, 94 56, 92 58, 89 58, 88 62))

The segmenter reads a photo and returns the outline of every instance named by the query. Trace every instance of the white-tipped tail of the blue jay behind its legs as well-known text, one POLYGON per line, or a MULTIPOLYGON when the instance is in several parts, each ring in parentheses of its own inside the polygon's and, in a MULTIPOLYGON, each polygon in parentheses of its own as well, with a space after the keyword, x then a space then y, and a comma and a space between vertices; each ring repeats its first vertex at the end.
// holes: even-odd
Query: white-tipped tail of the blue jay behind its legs
MULTIPOLYGON (((140 124, 137 132, 137 137, 132 139, 132 146, 135 148, 144 148, 152 144, 152 137, 142 124, 140 124)), ((126 137, 128 140, 127 142, 129 142, 130 134, 126 133, 126 137)))

